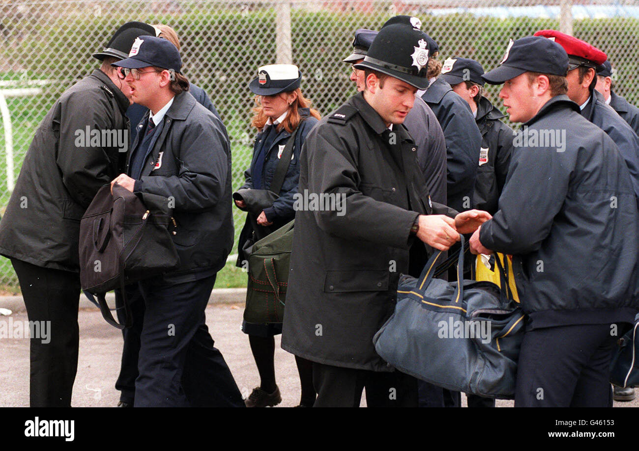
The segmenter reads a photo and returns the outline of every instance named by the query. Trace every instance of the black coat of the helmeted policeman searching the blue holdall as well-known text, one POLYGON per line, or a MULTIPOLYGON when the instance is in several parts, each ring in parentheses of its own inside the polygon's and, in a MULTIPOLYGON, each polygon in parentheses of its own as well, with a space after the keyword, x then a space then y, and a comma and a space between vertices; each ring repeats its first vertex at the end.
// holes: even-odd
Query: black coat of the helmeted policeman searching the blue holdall
POLYGON ((284 350, 321 364, 391 370, 373 335, 394 311, 409 249, 421 246, 426 263, 410 228, 433 209, 456 213, 431 209, 412 138, 402 125, 392 133, 360 92, 306 138, 298 193, 309 202, 295 214, 284 350), (312 204, 318 195, 340 207, 312 204))

